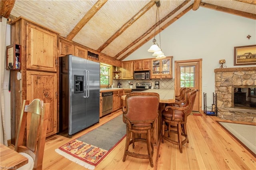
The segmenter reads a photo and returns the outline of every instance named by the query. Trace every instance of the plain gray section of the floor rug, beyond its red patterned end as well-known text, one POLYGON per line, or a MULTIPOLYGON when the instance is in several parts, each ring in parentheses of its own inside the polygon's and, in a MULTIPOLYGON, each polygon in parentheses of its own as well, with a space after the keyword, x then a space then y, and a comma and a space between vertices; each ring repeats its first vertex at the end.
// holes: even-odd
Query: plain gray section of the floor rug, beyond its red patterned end
POLYGON ((110 150, 126 135, 123 115, 108 121, 100 127, 78 137, 77 139, 99 148, 110 150))

